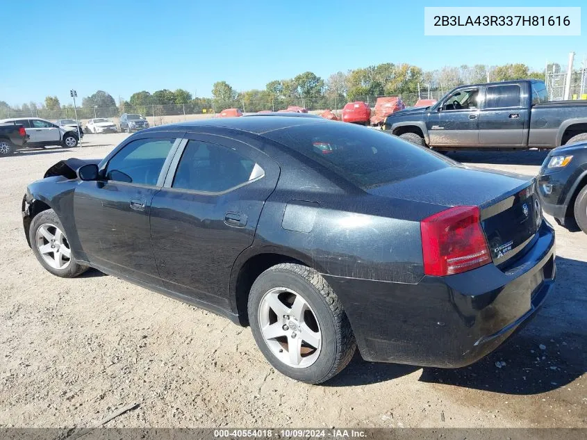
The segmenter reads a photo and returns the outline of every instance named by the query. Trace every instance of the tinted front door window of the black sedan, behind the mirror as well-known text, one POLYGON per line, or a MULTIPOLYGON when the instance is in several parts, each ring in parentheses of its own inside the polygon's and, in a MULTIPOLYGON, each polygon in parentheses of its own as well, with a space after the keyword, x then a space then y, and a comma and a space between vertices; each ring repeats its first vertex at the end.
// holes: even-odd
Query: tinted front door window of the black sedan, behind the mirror
POLYGON ((110 159, 106 179, 129 184, 157 184, 175 139, 138 139, 110 159))

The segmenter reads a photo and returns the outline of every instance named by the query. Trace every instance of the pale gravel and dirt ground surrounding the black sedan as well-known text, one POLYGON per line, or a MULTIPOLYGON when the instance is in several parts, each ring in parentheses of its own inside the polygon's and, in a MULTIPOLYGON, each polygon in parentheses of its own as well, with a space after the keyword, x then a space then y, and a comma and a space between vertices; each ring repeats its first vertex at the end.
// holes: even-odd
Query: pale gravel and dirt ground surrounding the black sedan
MULTIPOLYGON (((358 355, 324 386, 283 377, 249 329, 97 271, 60 279, 22 232, 24 188, 81 149, 0 158, 0 427, 587 427, 587 236, 556 226, 555 293, 522 332, 460 370, 371 364, 358 355), (496 366, 498 361, 499 368, 496 366)), ((540 152, 456 160, 536 174, 540 152)))

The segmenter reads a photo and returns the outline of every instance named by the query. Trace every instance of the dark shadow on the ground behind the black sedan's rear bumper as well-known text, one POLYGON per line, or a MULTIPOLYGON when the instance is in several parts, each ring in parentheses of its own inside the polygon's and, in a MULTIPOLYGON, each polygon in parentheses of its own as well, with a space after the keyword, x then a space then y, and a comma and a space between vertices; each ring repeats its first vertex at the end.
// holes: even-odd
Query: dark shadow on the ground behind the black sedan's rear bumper
MULTIPOLYGON (((505 394, 544 393, 587 372, 587 263, 558 257, 556 288, 536 317, 495 352, 463 368, 423 368, 421 382, 505 394)), ((373 364, 354 357, 325 386, 393 380, 419 367, 373 364)))

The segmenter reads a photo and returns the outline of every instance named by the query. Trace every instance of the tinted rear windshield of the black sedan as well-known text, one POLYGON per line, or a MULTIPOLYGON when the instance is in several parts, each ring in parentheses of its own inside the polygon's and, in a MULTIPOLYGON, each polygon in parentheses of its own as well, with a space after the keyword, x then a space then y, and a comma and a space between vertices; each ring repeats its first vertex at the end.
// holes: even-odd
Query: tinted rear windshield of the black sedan
POLYGON ((451 166, 452 161, 383 131, 342 122, 265 133, 367 190, 451 166))

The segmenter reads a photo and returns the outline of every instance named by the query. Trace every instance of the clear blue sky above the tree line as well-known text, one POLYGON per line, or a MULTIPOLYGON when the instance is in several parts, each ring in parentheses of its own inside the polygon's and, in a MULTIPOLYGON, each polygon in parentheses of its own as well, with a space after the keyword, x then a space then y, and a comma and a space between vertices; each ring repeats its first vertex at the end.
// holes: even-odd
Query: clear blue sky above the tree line
POLYGON ((566 65, 587 55, 587 3, 580 37, 425 37, 424 6, 555 6, 552 1, 3 1, 0 100, 71 102, 106 90, 118 101, 140 90, 185 88, 209 96, 310 70, 379 63, 566 65), (49 6, 51 5, 51 6, 49 6), (7 17, 13 17, 7 19, 7 17))

